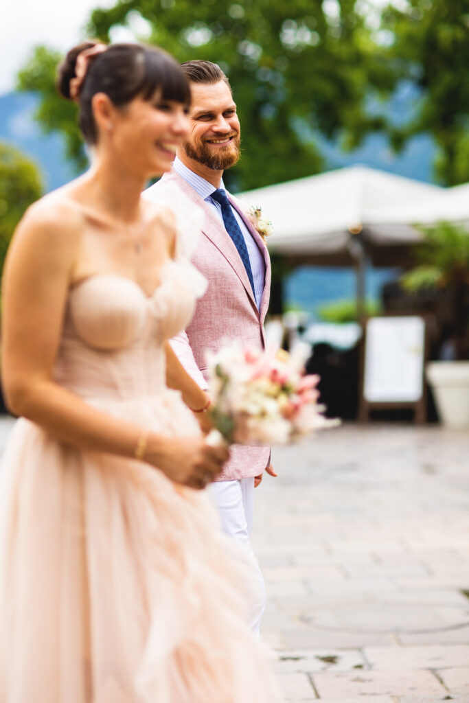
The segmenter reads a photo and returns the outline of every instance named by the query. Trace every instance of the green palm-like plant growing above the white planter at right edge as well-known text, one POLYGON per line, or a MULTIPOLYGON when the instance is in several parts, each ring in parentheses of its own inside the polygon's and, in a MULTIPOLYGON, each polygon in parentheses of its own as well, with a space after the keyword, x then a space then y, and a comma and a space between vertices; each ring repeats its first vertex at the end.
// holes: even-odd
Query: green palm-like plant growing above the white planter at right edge
POLYGON ((450 222, 423 227, 424 242, 416 247, 418 264, 401 276, 404 288, 444 288, 451 283, 469 283, 469 231, 450 222))

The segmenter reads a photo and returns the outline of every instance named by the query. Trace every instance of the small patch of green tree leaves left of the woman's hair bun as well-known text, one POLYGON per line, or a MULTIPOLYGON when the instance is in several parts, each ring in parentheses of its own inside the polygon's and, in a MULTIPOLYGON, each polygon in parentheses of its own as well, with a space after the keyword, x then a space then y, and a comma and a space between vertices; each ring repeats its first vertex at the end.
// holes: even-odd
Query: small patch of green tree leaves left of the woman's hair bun
POLYGON ((64 100, 56 90, 56 71, 63 56, 45 46, 37 46, 27 65, 18 74, 18 89, 39 93, 37 122, 46 134, 60 131, 65 137, 66 155, 82 170, 87 159, 77 125, 78 108, 64 100))

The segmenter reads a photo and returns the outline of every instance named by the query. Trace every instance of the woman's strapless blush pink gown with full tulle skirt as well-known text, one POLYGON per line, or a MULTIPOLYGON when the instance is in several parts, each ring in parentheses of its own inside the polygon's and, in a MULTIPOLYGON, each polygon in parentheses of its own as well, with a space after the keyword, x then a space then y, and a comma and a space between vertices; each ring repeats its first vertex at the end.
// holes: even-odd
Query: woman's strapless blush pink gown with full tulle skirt
MULTIPOLYGON (((151 297, 120 276, 76 285, 56 381, 141 427, 198 433, 165 386, 164 353, 193 314, 195 276, 181 259, 151 297)), ((245 625, 238 574, 249 567, 227 554, 205 491, 25 419, 1 474, 1 703, 280 700, 245 625)))

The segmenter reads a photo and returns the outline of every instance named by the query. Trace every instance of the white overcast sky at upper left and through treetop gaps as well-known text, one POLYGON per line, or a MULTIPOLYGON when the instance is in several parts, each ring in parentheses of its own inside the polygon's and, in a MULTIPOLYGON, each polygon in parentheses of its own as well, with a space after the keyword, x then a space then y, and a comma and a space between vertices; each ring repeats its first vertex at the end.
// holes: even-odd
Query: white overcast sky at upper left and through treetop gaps
MULTIPOLYGON (((156 2, 157 0, 155 0, 156 2)), ((197 1, 197 0, 194 0, 197 1)), ((236 1, 236 0, 235 0, 236 1)), ((371 15, 378 6, 392 1, 403 4, 405 0, 360 0, 361 7, 371 15), (368 6, 368 7, 367 7, 368 6), (372 6, 371 8, 369 6, 372 6), (367 9, 365 9, 367 8, 367 9)), ((84 25, 91 10, 112 7, 116 0, 4 0, 6 8, 0 21, 0 94, 15 87, 15 76, 25 65, 32 47, 46 44, 51 49, 65 51, 86 38, 84 25)), ((337 0, 324 0, 323 8, 335 13, 337 0)), ((134 13, 136 14, 136 13, 134 13)), ((145 36, 143 22, 136 20, 139 36, 145 36)), ((131 35, 116 33, 113 41, 129 41, 131 35)))

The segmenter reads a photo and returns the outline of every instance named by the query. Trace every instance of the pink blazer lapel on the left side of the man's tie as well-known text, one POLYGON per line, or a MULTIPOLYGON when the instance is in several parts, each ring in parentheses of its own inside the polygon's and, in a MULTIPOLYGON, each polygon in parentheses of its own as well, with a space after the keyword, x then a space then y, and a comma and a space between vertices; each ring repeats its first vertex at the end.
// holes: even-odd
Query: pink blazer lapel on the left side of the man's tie
MULTIPOLYGON (((200 195, 193 189, 193 187, 189 186, 189 184, 186 183, 186 181, 184 181, 184 179, 181 178, 179 174, 176 174, 174 172, 165 174, 165 176, 162 176, 162 180, 165 182, 169 182, 170 180, 176 181, 179 188, 181 188, 181 190, 184 191, 184 193, 188 195, 188 197, 191 198, 191 200, 193 200, 193 202, 195 202, 198 207, 201 207, 203 209, 205 213, 205 222, 203 224, 202 230, 203 234, 207 237, 207 239, 210 239, 212 244, 214 244, 215 247, 217 247, 217 249, 219 250, 219 252, 223 254, 226 261, 229 262, 229 264, 233 268, 233 271, 235 271, 236 276, 238 276, 241 283, 243 283, 243 286, 246 292, 248 293, 252 304, 257 310, 254 292, 252 291, 251 283, 248 278, 248 273, 246 272, 245 266, 241 261, 239 252, 236 249, 233 240, 226 232, 224 226, 222 226, 221 222, 219 221, 217 215, 213 212, 212 207, 210 207, 210 205, 205 202, 205 200, 200 197, 200 195)), ((238 210, 238 208, 236 209, 238 210)))

